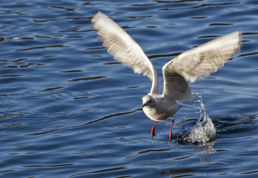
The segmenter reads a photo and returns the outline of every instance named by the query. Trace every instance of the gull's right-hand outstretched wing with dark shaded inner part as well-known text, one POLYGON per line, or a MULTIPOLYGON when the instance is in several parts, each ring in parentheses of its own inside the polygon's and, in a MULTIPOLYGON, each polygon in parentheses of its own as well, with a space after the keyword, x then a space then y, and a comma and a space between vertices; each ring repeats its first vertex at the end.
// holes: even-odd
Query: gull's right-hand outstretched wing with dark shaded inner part
MULTIPOLYGON (((183 52, 162 68, 164 78, 163 94, 170 94, 166 79, 178 78, 178 89, 173 95, 181 101, 190 101, 192 95, 187 82, 194 83, 197 77, 208 76, 230 60, 230 56, 240 50, 241 34, 233 32, 208 43, 183 52), (178 76, 181 76, 178 77, 178 76), (186 92, 182 92, 182 89, 186 92)), ((192 96, 193 97, 193 96, 192 96)))

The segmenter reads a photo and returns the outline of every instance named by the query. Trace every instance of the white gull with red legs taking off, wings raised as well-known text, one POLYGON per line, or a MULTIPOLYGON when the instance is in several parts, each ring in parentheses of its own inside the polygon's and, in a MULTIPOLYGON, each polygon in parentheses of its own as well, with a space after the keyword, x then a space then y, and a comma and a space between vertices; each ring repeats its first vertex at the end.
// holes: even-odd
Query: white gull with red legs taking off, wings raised
POLYGON ((118 62, 152 81, 150 92, 142 97, 143 112, 156 121, 151 129, 151 139, 155 136, 157 123, 171 118, 169 141, 172 141, 173 115, 181 107, 194 107, 182 103, 194 99, 188 83, 216 72, 241 46, 241 33, 236 31, 181 53, 162 67, 164 88, 160 94, 156 68, 129 34, 100 11, 91 22, 103 45, 118 62))

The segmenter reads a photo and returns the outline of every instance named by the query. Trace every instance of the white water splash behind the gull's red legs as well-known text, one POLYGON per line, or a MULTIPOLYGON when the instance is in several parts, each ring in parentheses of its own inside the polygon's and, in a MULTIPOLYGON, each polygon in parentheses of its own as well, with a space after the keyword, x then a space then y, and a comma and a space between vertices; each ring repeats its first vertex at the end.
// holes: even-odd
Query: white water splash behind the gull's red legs
POLYGON ((205 105, 202 103, 201 95, 199 95, 199 98, 200 99, 196 100, 196 102, 198 102, 201 106, 199 111, 200 117, 194 128, 184 135, 183 139, 186 143, 204 144, 216 138, 216 129, 214 128, 214 124, 206 114, 204 108, 205 105))

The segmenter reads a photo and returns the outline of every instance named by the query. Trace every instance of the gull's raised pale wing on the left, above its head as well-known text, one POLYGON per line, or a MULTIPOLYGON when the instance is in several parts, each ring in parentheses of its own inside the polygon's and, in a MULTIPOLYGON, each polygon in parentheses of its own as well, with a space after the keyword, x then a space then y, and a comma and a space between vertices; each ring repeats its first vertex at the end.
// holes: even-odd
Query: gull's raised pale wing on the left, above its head
POLYGON ((108 52, 134 73, 146 75, 152 81, 151 93, 158 93, 157 71, 141 47, 112 19, 98 12, 91 20, 108 52))

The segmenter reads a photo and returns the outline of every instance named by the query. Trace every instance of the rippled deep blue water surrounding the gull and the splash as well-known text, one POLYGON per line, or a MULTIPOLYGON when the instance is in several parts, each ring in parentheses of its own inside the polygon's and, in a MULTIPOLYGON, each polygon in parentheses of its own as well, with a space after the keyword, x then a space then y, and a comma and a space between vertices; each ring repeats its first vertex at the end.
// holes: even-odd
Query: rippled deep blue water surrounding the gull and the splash
POLYGON ((257 0, 0 4, 0 177, 258 175, 257 0), (174 115, 171 143, 170 120, 150 139, 154 122, 144 115, 141 97, 151 82, 117 64, 96 40, 90 19, 98 10, 126 29, 159 77, 181 52, 242 31, 241 52, 190 85, 194 99, 202 97, 215 139, 182 141, 202 122, 194 108, 174 115))

